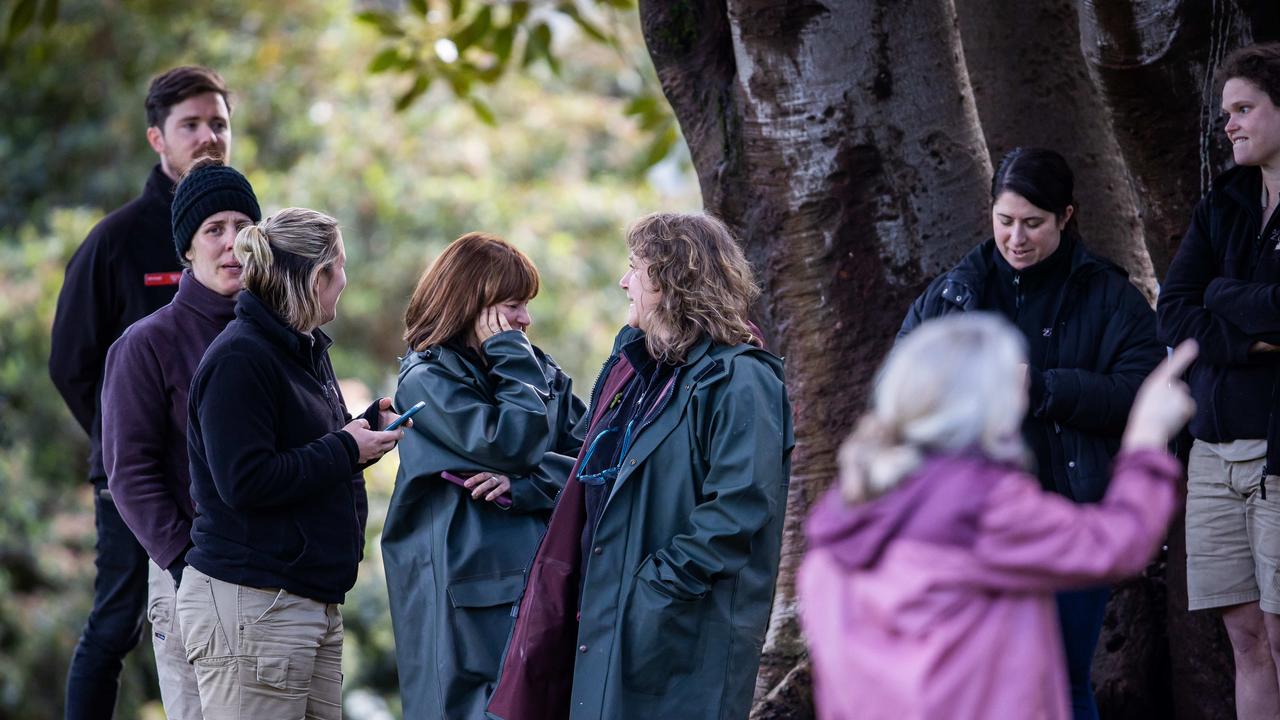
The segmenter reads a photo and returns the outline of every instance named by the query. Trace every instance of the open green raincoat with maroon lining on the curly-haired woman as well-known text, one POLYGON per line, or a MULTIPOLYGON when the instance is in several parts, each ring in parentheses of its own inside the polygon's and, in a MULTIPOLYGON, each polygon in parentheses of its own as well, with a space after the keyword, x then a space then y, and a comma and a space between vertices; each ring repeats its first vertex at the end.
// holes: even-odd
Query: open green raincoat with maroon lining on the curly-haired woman
MULTIPOLYGON (((641 337, 618 334, 593 391, 593 425, 600 398, 634 374, 620 350, 641 337)), ((794 445, 782 360, 746 343, 695 346, 622 459, 585 579, 584 492, 570 475, 530 568, 489 716, 746 717, 794 445)))

